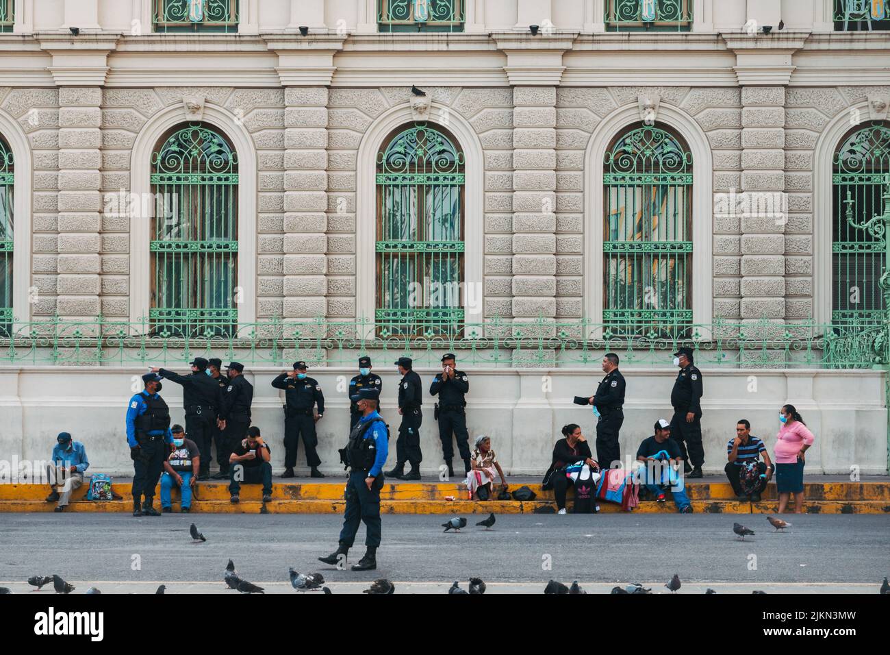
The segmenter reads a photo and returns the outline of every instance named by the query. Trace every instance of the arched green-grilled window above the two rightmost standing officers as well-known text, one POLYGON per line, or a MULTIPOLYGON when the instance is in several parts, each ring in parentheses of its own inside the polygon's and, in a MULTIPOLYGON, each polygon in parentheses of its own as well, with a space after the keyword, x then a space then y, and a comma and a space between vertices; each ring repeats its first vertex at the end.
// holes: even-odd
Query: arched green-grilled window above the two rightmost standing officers
POLYGON ((603 323, 679 336, 692 323, 692 154, 631 127, 603 161, 603 323))

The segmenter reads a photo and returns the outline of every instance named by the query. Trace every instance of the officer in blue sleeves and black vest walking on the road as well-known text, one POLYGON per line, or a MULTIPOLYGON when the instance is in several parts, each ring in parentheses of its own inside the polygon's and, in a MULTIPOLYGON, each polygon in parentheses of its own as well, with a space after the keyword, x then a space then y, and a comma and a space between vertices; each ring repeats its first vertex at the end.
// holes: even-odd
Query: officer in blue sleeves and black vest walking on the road
MULTIPOLYGON (((349 434, 345 448, 345 458, 350 466, 349 480, 346 482, 346 511, 340 543, 334 553, 319 560, 339 566, 346 561, 346 553, 352 548, 360 521, 365 521, 368 534, 365 556, 353 571, 369 571, 377 568, 376 552, 380 546, 380 489, 384 486, 384 463, 389 454, 389 429, 377 413, 380 392, 377 389, 361 389, 350 397, 359 405, 361 418, 349 434)), ((343 453, 343 451, 341 451, 343 453)))

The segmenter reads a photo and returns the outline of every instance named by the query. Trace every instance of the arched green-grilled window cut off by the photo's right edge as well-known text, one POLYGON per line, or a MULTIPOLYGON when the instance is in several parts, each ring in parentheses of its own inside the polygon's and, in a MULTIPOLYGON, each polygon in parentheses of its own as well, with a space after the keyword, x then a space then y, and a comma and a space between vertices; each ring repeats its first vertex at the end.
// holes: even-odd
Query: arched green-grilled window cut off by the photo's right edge
POLYGON ((890 127, 874 123, 850 130, 837 147, 832 176, 831 321, 852 326, 883 319, 878 287, 884 263, 883 242, 862 224, 885 209, 882 194, 890 184, 890 127))

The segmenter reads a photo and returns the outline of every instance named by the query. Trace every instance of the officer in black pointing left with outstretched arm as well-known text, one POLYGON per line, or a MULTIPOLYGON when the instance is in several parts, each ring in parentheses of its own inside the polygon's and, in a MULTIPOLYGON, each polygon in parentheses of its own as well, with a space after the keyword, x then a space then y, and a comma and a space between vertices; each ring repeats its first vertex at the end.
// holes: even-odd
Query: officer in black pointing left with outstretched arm
POLYGON ((205 480, 210 479, 210 447, 213 445, 212 430, 216 425, 219 385, 207 375, 207 360, 204 357, 195 357, 189 365, 191 375, 179 375, 164 368, 153 368, 151 371, 182 386, 185 432, 201 453, 198 479, 205 480))

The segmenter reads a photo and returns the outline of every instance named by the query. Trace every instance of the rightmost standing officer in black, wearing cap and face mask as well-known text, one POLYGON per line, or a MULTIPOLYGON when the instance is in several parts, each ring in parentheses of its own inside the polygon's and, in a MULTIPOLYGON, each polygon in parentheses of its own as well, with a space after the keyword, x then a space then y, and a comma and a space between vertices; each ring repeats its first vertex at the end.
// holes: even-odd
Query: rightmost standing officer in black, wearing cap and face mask
POLYGON ((692 348, 680 348, 674 353, 674 364, 680 373, 670 392, 674 416, 670 422, 670 436, 683 453, 687 478, 700 478, 705 463, 705 449, 701 445, 701 372, 692 364, 692 348), (689 447, 687 454, 686 447, 689 447), (692 462, 690 467, 689 462, 692 462))

